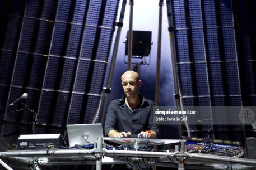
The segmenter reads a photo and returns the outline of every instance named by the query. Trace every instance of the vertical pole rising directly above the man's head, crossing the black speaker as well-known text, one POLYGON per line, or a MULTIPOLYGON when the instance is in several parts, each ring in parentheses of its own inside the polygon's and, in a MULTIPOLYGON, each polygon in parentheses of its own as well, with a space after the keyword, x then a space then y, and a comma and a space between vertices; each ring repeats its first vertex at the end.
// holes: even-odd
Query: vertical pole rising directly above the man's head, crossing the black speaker
POLYGON ((128 34, 128 70, 132 67, 132 22, 133 22, 133 0, 130 0, 130 18, 129 18, 129 34, 128 34))

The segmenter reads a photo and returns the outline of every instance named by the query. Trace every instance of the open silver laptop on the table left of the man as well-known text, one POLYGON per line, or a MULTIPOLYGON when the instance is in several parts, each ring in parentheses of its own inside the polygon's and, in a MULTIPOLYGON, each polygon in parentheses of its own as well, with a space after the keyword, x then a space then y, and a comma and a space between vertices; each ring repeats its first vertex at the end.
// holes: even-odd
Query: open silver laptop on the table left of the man
POLYGON ((86 145, 97 142, 97 138, 103 137, 101 123, 95 124, 69 124, 67 125, 69 147, 86 145))

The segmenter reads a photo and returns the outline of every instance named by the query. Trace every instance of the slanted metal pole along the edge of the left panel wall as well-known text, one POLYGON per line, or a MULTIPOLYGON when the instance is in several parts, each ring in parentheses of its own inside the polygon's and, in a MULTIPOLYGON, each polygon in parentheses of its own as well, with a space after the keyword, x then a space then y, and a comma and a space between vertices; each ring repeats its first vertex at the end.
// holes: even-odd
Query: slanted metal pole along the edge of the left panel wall
MULTIPOLYGON (((103 90, 104 99, 103 99, 103 110, 101 111, 101 119, 100 119, 101 124, 104 124, 106 108, 108 106, 108 99, 109 99, 109 94, 110 94, 110 91, 111 91, 111 83, 112 83, 114 69, 115 69, 115 60, 117 59, 117 51, 118 51, 121 31, 122 31, 122 27, 123 27, 123 20, 124 20, 124 12, 125 12, 126 3, 127 3, 127 0, 123 0, 119 22, 117 23, 117 26, 118 26, 117 35, 115 36, 115 44, 114 44, 113 54, 112 54, 111 63, 110 63, 108 81, 107 81, 107 84, 106 84, 106 88, 104 88, 104 90, 103 90)), ((100 110, 100 104, 98 106, 96 115, 95 115, 94 120, 93 120, 92 123, 96 122, 97 116, 99 115, 99 110, 100 110)))

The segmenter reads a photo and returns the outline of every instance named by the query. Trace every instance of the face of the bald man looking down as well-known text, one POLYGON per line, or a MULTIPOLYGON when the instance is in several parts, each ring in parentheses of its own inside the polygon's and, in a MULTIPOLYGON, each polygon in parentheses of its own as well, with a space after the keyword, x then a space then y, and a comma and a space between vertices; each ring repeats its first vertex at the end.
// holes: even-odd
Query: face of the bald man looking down
POLYGON ((122 77, 122 86, 126 97, 134 98, 139 93, 139 86, 141 86, 141 80, 136 81, 136 76, 133 74, 125 74, 122 77))

